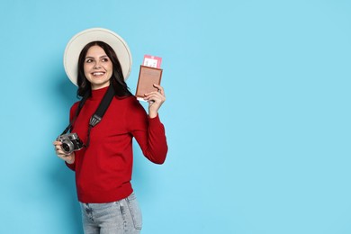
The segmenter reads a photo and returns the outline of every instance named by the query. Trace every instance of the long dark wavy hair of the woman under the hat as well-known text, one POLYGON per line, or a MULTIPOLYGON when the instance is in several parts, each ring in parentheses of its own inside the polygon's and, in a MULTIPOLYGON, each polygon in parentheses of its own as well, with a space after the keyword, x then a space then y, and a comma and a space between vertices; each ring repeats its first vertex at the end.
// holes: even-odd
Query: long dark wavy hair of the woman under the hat
POLYGON ((106 44, 103 41, 93 41, 85 45, 85 48, 82 49, 78 58, 78 79, 77 85, 78 90, 76 91, 76 95, 83 97, 87 92, 90 94, 92 90, 92 86, 90 82, 86 79, 84 73, 84 63, 85 63, 85 56, 92 46, 99 46, 101 47, 104 52, 106 53, 107 57, 112 61, 113 72, 110 78, 110 83, 113 85, 115 95, 118 97, 122 96, 130 96, 128 85, 124 81, 124 76, 121 70, 120 60, 118 60, 116 53, 112 49, 111 46, 106 44))

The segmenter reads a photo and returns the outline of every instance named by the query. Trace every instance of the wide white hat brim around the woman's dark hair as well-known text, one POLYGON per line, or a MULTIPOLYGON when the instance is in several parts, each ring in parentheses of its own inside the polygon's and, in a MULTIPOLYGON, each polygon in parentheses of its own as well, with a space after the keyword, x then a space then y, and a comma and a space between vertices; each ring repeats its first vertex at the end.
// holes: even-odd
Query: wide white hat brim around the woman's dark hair
POLYGON ((86 44, 100 40, 112 47, 121 63, 121 70, 124 80, 130 76, 131 54, 127 43, 113 31, 103 28, 92 28, 78 32, 71 40, 68 41, 63 64, 66 74, 73 84, 77 85, 78 77, 78 58, 80 52, 86 44))

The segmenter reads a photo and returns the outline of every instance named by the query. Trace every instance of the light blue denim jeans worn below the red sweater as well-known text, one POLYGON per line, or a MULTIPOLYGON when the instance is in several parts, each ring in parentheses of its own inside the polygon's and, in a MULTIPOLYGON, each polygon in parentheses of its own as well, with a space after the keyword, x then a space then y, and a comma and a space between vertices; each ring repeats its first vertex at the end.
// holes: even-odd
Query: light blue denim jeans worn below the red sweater
POLYGON ((139 234, 142 225, 134 193, 117 202, 80 203, 85 234, 139 234))

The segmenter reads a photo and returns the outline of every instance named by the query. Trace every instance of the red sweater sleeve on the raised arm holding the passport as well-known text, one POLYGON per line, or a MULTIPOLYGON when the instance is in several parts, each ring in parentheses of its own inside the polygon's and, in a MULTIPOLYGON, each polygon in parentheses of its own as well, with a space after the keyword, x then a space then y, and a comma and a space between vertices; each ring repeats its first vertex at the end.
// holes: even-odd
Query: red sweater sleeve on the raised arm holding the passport
POLYGON ((165 127, 159 119, 149 118, 147 112, 135 99, 127 118, 130 132, 137 140, 143 154, 153 163, 163 164, 168 150, 165 127), (131 117, 131 118, 130 118, 131 117))

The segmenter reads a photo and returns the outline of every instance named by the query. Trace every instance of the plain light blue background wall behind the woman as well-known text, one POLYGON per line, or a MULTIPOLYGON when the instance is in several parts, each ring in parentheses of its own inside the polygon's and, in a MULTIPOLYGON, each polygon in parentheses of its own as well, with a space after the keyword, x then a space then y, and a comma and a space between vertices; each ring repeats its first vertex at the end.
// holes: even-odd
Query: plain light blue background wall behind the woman
POLYGON ((51 143, 76 102, 64 49, 91 27, 128 42, 133 93, 163 58, 165 165, 135 146, 144 234, 351 233, 347 0, 2 1, 0 233, 82 233, 51 143))

